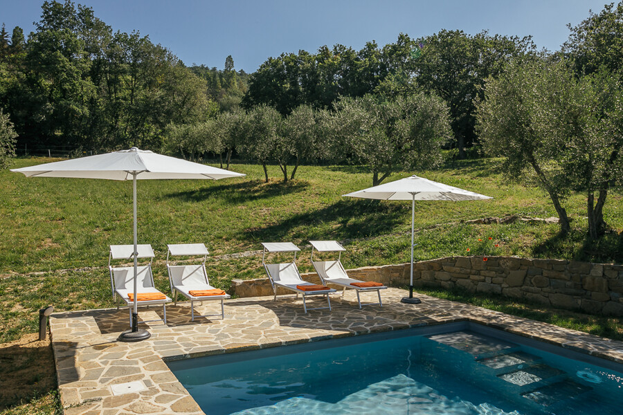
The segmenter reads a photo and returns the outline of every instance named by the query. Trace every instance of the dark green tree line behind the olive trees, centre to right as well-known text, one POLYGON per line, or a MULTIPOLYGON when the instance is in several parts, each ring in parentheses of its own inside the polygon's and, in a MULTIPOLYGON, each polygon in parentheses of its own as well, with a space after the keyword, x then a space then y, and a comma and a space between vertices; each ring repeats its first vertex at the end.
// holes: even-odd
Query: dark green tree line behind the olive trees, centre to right
POLYGON ((491 36, 486 31, 472 36, 461 30, 441 30, 420 39, 400 34, 393 44, 380 48, 368 42, 359 51, 338 44, 315 54, 282 53, 251 74, 242 105, 250 109, 267 104, 287 116, 301 104, 334 109, 342 97, 435 93, 450 109, 451 144, 462 157, 466 145, 476 140, 473 103, 482 97, 485 79, 526 53, 534 53, 530 37, 491 36))

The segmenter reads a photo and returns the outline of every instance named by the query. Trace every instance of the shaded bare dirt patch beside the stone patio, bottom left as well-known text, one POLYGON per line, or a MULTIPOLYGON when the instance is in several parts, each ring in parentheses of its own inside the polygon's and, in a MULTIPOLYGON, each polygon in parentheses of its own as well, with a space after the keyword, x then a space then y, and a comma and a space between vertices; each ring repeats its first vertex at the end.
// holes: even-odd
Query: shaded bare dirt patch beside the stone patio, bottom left
POLYGON ((56 388, 56 369, 50 336, 38 333, 0 344, 0 410, 43 396, 56 388))

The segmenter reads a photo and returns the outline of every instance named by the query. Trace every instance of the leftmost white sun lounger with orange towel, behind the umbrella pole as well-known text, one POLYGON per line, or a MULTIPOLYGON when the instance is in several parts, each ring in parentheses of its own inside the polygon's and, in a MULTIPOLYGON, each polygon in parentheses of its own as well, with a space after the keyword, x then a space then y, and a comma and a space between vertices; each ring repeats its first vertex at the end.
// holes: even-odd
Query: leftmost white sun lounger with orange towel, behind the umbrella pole
MULTIPOLYGON (((152 260, 154 259, 154 250, 149 244, 138 245, 137 258, 149 258, 150 262, 147 265, 141 265, 137 268, 136 273, 136 294, 145 293, 159 293, 164 295, 161 291, 158 291, 154 286, 154 275, 152 274, 152 260)), ((113 293, 113 299, 115 304, 117 303, 117 295, 125 302, 129 308, 130 324, 132 324, 132 306, 134 301, 129 299, 129 294, 134 293, 134 266, 118 266, 111 265, 113 259, 124 259, 125 261, 134 259, 134 245, 111 245, 110 255, 108 258, 108 269, 110 271, 110 284, 113 293)), ((159 322, 162 321, 167 324, 167 308, 166 304, 171 302, 171 299, 165 295, 165 299, 152 299, 148 301, 139 301, 140 306, 158 306, 162 304, 162 312, 164 318, 161 320, 149 320, 147 322, 159 322)), ((119 306, 117 306, 119 308, 119 306)))

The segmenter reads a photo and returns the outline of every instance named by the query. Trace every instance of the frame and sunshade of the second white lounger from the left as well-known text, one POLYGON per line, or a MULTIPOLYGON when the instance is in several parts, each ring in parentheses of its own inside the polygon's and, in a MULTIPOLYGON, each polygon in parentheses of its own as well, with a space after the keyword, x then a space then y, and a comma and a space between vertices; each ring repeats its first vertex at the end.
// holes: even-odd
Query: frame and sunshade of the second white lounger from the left
MULTIPOLYGON (((204 314, 197 315, 197 317, 213 317, 215 315, 220 315, 222 319, 225 319, 225 306, 224 300, 231 298, 229 294, 224 295, 204 295, 203 297, 197 297, 195 295, 190 295, 190 293, 185 293, 180 289, 177 284, 174 284, 174 270, 177 267, 193 267, 195 266, 195 272, 199 271, 201 273, 201 279, 205 282, 206 286, 201 287, 201 289, 215 289, 215 287, 210 285, 208 280, 208 272, 206 271, 206 259, 210 252, 208 252, 208 248, 204 245, 204 243, 172 243, 167 245, 167 272, 169 274, 169 285, 171 287, 171 293, 173 293, 173 304, 177 306, 177 293, 180 293, 184 297, 188 298, 190 302, 190 321, 195 321, 195 302, 204 302, 204 301, 214 301, 220 300, 221 302, 221 313, 220 314, 204 314), (172 265, 169 263, 169 257, 200 257, 203 256, 204 259, 201 264, 192 264, 192 265, 172 265)), ((187 291, 190 291, 188 289, 187 291)))

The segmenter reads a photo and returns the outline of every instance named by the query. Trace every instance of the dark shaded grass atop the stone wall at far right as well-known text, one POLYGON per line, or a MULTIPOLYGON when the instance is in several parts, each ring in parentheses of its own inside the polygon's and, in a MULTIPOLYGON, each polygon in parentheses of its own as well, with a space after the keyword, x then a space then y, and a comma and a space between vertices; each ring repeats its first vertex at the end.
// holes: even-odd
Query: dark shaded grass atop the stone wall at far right
POLYGON ((532 248, 537 258, 565 258, 586 262, 623 262, 623 234, 608 232, 598 239, 588 237, 586 230, 560 232, 532 248), (577 248, 579 246, 579 248, 577 248))

